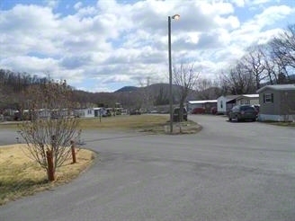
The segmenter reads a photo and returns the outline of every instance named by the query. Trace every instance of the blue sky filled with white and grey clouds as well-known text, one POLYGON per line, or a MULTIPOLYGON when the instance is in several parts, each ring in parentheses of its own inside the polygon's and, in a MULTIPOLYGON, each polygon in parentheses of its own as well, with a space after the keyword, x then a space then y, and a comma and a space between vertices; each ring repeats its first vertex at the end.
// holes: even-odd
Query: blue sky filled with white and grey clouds
POLYGON ((218 79, 295 23, 295 0, 0 0, 0 68, 114 92, 168 83, 172 63, 218 79))

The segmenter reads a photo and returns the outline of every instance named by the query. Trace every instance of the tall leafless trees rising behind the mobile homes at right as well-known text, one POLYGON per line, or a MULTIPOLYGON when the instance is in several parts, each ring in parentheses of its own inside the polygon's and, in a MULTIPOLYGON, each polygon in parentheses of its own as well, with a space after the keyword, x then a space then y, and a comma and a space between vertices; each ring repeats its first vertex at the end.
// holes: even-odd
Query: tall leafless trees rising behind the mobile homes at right
POLYGON ((220 87, 224 93, 256 93, 266 84, 295 83, 295 24, 265 44, 246 49, 246 54, 223 71, 220 87))

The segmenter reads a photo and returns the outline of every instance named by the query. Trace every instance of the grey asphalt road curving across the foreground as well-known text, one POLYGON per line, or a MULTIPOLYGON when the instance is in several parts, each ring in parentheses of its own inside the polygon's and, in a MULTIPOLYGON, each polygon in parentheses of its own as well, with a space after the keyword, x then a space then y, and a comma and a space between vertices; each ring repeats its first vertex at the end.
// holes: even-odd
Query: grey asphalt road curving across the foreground
POLYGON ((88 131, 94 166, 0 207, 0 220, 295 220, 294 128, 190 117, 203 126, 197 135, 88 131))

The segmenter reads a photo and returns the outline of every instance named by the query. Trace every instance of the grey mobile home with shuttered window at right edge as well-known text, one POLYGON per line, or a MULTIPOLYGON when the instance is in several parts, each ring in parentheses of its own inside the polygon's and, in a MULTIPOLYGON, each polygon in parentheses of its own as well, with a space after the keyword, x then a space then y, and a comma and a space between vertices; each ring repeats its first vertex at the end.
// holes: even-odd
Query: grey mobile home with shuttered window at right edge
POLYGON ((295 84, 266 85, 259 93, 259 120, 295 120, 295 84))

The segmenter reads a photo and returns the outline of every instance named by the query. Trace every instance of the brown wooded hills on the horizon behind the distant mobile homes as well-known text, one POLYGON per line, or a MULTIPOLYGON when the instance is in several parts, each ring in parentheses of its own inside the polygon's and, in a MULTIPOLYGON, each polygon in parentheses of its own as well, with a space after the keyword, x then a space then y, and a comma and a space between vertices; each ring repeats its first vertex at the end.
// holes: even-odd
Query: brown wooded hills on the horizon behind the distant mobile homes
MULTIPOLYGON (((26 73, 15 73, 13 71, 0 69, 0 111, 5 109, 26 109, 28 102, 23 94, 31 85, 47 84, 49 77, 38 77, 26 73)), ((69 88, 72 88, 68 85, 69 88)), ((167 105, 169 103, 169 84, 151 84, 145 87, 124 86, 113 93, 89 93, 81 90, 73 90, 72 102, 77 108, 88 107, 115 107, 116 103, 121 103, 128 109, 151 109, 157 105, 167 105)), ((173 101, 178 103, 177 94, 181 87, 173 85, 173 101)), ((200 99, 200 93, 192 91, 188 100, 200 99)))

